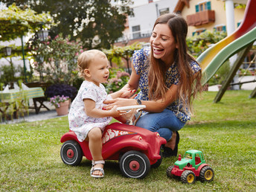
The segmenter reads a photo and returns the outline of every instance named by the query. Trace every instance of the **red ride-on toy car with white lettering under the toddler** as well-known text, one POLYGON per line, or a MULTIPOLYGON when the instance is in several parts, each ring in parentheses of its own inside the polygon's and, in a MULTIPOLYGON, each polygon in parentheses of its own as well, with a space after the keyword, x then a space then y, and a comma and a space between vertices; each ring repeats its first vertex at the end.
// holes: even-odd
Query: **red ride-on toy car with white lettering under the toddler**
MULTIPOLYGON (((74 132, 66 132, 60 141, 61 159, 65 164, 76 166, 83 156, 92 160, 89 142, 80 142, 74 132)), ((151 167, 161 164, 161 144, 165 144, 158 132, 151 132, 141 127, 113 123, 103 132, 102 156, 104 160, 119 160, 121 173, 131 178, 142 179, 151 167)))

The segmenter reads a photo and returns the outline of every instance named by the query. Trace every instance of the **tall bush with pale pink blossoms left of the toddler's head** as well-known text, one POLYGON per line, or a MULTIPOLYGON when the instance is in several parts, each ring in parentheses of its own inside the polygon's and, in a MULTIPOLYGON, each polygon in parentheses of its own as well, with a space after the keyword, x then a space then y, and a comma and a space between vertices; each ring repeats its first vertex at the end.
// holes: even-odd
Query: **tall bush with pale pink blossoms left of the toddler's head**
POLYGON ((31 39, 28 44, 33 53, 35 71, 40 74, 40 80, 57 84, 71 85, 77 78, 77 58, 83 52, 81 42, 71 41, 70 37, 56 36, 54 39, 31 39))

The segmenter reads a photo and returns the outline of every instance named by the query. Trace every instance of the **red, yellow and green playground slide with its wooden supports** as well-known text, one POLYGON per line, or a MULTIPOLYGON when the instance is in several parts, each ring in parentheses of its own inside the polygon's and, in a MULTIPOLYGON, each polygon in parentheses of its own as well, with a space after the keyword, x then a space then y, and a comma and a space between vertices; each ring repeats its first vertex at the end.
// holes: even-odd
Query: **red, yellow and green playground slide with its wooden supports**
MULTIPOLYGON (((197 61, 202 65, 202 84, 204 85, 226 60, 234 54, 239 53, 236 62, 233 64, 231 71, 223 83, 222 88, 215 97, 214 103, 217 103, 220 101, 221 97, 223 97, 225 90, 228 88, 231 80, 234 78, 234 75, 243 63, 246 54, 249 52, 253 42, 256 40, 255 10, 256 1, 249 0, 246 5, 245 16, 240 27, 237 28, 237 30, 230 36, 225 37, 225 39, 217 42, 215 45, 211 46, 211 48, 208 48, 197 58, 197 61)), ((249 97, 255 96, 256 88, 249 97)))

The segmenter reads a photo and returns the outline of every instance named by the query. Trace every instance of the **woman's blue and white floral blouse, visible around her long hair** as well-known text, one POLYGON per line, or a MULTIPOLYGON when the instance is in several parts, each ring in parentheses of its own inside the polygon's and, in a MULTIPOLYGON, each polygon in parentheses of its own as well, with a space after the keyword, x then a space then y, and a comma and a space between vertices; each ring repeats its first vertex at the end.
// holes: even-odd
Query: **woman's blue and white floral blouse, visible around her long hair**
MULTIPOLYGON (((135 51, 132 56, 132 65, 135 68, 136 74, 140 76, 140 80, 138 83, 139 89, 141 91, 135 97, 140 100, 149 100, 148 97, 148 69, 150 65, 150 48, 142 48, 141 50, 135 51)), ((191 61, 191 68, 194 73, 201 70, 200 66, 195 62, 191 61)), ((166 79, 166 86, 170 87, 171 85, 178 85, 179 84, 179 74, 177 70, 177 65, 174 63, 170 65, 170 68, 165 73, 166 79)), ((180 119, 182 122, 186 122, 191 119, 191 115, 188 113, 187 110, 182 109, 183 103, 179 100, 174 101, 167 106, 167 109, 170 109, 174 112, 177 118, 180 119)))

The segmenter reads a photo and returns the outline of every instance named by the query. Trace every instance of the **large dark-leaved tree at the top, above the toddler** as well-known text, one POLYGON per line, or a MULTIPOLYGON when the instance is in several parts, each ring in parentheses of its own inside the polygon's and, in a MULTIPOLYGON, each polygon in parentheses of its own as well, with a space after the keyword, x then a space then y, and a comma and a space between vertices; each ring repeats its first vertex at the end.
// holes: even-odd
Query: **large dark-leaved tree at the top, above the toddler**
MULTIPOLYGON (((4 0, 7 4, 14 0, 4 0)), ((57 26, 51 37, 62 33, 80 39, 84 48, 110 48, 122 36, 127 15, 132 14, 131 0, 16 0, 20 7, 31 7, 38 13, 50 11, 57 26)))

